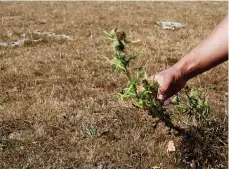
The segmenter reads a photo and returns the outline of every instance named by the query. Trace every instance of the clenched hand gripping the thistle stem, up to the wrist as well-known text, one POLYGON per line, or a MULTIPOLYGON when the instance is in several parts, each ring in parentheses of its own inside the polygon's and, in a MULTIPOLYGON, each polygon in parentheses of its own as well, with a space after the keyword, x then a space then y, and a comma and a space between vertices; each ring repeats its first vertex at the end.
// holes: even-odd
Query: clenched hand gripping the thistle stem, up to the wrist
POLYGON ((150 79, 156 80, 160 85, 157 93, 159 100, 166 100, 173 96, 179 92, 187 82, 182 72, 175 66, 158 73, 154 77, 150 77, 150 79))

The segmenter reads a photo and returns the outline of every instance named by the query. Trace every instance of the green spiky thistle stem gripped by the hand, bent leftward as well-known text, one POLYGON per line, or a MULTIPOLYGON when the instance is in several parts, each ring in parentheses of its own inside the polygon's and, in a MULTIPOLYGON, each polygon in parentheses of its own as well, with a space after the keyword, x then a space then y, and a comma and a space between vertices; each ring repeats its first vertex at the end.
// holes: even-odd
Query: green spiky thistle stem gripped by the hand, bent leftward
POLYGON ((129 70, 130 62, 136 56, 129 54, 126 49, 129 44, 138 41, 127 40, 125 32, 119 32, 117 29, 111 30, 109 33, 105 32, 105 34, 106 39, 113 42, 114 58, 111 60, 113 68, 124 73, 128 78, 128 85, 120 94, 121 99, 132 99, 135 107, 144 109, 150 115, 159 119, 156 124, 164 122, 167 127, 183 132, 183 129, 171 122, 164 102, 157 100, 159 84, 154 80, 148 80, 143 68, 139 68, 135 73, 131 73, 129 70))

